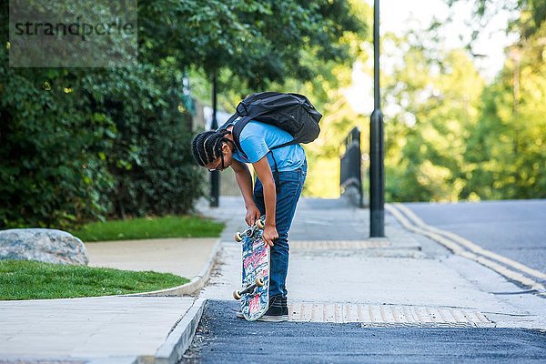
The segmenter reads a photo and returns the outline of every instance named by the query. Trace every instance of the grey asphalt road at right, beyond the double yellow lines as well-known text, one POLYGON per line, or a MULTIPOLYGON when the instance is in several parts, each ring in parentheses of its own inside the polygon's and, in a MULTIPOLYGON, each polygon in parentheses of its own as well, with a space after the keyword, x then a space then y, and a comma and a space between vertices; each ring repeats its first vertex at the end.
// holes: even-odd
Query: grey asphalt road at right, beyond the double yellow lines
POLYGON ((546 200, 407 203, 428 225, 546 273, 546 200))

